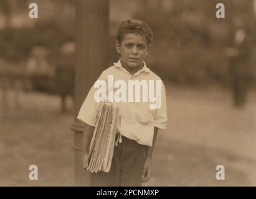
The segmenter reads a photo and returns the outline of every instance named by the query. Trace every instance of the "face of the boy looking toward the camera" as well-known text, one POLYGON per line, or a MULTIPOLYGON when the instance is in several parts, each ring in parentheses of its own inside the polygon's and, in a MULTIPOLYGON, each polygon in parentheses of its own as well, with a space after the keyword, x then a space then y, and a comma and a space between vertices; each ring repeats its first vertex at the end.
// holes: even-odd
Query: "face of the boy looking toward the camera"
POLYGON ((121 59, 129 67, 141 66, 148 55, 146 36, 128 33, 123 35, 121 44, 116 41, 116 51, 121 54, 121 59))

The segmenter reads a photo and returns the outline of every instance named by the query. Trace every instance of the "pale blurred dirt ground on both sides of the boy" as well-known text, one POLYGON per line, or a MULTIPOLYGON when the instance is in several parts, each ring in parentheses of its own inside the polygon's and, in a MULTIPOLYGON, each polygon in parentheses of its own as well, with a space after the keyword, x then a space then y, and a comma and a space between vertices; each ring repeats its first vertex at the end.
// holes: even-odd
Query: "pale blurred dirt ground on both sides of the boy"
MULTIPOLYGON (((255 186, 256 91, 236 109, 228 90, 166 90, 168 127, 159 131, 153 174, 143 185, 255 186), (216 180, 217 165, 225 180, 216 180)), ((0 185, 73 186, 72 99, 66 114, 58 96, 10 91, 7 99, 8 106, 0 103, 0 185), (37 165, 39 180, 29 180, 29 165, 37 165)))

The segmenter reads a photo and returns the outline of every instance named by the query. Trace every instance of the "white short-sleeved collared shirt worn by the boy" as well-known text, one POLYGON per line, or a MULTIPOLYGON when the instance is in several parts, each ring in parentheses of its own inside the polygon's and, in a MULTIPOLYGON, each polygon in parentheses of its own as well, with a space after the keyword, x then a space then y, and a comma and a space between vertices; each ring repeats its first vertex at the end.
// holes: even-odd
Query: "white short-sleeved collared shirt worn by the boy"
MULTIPOLYGON (((117 63, 114 63, 112 67, 104 70, 98 80, 104 80, 106 82, 108 88, 108 76, 113 75, 113 81, 116 80, 124 80, 127 86, 128 93, 128 81, 129 80, 154 80, 154 97, 156 97, 156 80, 161 80, 158 75, 154 74, 146 67, 146 63, 144 62, 144 66, 141 70, 136 72, 134 75, 131 75, 125 68, 122 67, 120 60, 117 63)), ((149 82, 149 81, 148 81, 149 82)), ((149 83, 148 83, 149 88, 149 83)), ((141 86, 142 89, 142 86, 141 86)), ((152 88, 149 88, 152 90, 152 88)), ((95 101, 94 95, 95 91, 98 88, 95 88, 93 85, 90 89, 85 101, 80 108, 77 119, 87 123, 91 126, 95 126, 96 118, 98 111, 100 109, 100 103, 95 101)), ((118 88, 114 88, 113 92, 118 90, 118 88)), ((134 90, 135 91, 135 90, 134 90)), ((142 90, 140 93, 143 93, 142 90)), ((158 91, 159 93, 159 91, 158 91)), ((149 96, 149 91, 148 91, 149 96)), ((126 96, 126 102, 116 102, 113 101, 115 106, 118 106, 120 109, 121 115, 121 123, 118 125, 118 132, 120 132, 121 136, 128 137, 129 139, 135 140, 139 144, 143 144, 146 146, 152 146, 153 136, 154 136, 154 126, 159 129, 166 129, 167 123, 167 111, 166 111, 166 90, 164 88, 163 81, 161 81, 161 106, 157 109, 151 109, 150 104, 155 104, 156 102, 148 100, 148 102, 143 102, 143 98, 141 96, 141 102, 128 102, 128 94, 126 96)), ((159 95, 158 95, 159 98, 159 95)), ((149 99, 149 97, 148 97, 149 99)))

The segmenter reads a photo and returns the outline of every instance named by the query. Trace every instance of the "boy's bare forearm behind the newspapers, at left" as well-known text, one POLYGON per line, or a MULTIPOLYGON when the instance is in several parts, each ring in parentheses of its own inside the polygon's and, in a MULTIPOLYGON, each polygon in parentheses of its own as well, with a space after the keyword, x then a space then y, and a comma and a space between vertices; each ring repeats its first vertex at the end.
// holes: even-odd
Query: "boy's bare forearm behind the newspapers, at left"
POLYGON ((94 126, 85 124, 85 131, 83 131, 83 144, 82 144, 82 151, 81 151, 83 169, 85 169, 87 165, 90 141, 92 140, 94 128, 95 128, 94 126))

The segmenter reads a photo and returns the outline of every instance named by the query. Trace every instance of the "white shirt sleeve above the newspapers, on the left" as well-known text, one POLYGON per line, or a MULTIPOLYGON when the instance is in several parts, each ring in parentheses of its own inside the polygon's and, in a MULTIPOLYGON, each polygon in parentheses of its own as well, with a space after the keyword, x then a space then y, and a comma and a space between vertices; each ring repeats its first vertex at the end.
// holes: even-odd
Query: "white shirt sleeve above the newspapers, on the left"
MULTIPOLYGON (((103 73, 100 75, 98 80, 104 80, 103 73)), ((96 90, 97 88, 95 88, 93 84, 92 88, 90 88, 90 91, 88 92, 87 97, 85 98, 85 101, 83 101, 77 116, 79 121, 89 124, 90 126, 95 126, 97 120, 97 111, 100 109, 100 103, 94 99, 96 90)))

